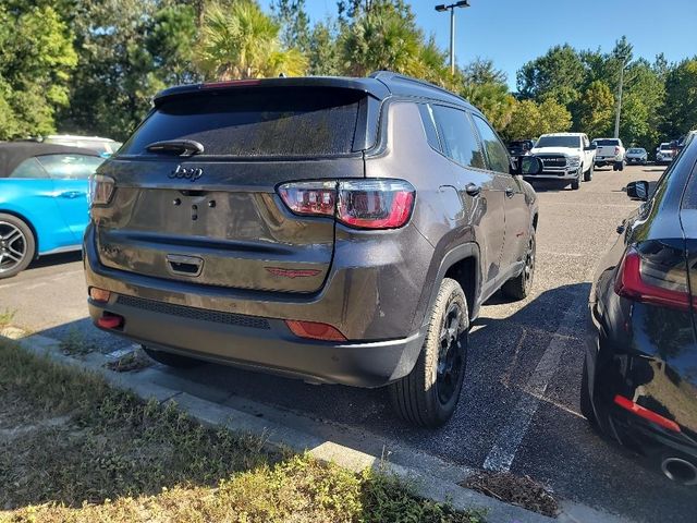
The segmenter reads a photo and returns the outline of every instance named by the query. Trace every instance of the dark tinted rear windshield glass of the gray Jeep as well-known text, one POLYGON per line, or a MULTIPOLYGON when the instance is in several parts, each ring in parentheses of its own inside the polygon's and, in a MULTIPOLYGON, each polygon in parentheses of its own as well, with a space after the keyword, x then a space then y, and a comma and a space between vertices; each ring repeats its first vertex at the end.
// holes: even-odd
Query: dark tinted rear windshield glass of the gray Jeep
POLYGON ((364 93, 285 87, 200 93, 166 100, 120 155, 160 141, 193 139, 206 156, 315 157, 351 154, 364 93))

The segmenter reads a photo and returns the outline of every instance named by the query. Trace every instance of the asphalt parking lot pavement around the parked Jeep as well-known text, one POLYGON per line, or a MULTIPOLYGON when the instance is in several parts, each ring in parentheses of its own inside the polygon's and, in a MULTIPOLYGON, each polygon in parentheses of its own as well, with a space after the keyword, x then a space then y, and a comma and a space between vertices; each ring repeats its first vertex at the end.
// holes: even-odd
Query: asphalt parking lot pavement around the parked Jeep
MULTIPOLYGON (((671 484, 633 455, 597 436, 578 414, 586 300, 598 258, 636 203, 622 187, 657 180, 663 168, 596 171, 580 191, 536 186, 540 202, 534 293, 508 303, 496 295, 473 327, 467 375, 455 416, 439 430, 396 419, 380 390, 311 386, 205 365, 167 372, 189 393, 216 391, 221 401, 272 405, 295 419, 321 423, 337 438, 399 443, 473 469, 510 470, 558 496, 627 521, 694 522, 695 490, 671 484)), ((99 350, 123 340, 86 319, 80 255, 60 255, 0 281, 0 312, 33 332, 62 338, 80 331, 99 350)))

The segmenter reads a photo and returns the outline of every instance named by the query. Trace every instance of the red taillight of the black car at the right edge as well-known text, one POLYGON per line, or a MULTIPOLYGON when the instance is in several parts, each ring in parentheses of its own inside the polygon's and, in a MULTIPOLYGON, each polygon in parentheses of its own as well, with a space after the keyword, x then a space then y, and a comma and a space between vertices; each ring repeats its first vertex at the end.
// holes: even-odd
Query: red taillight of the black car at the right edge
MULTIPOLYGON (((665 247, 665 251, 673 251, 665 247)), ((636 302, 650 303, 680 311, 697 308, 692 301, 684 257, 677 253, 661 256, 656 253, 649 258, 629 248, 620 265, 614 291, 623 297, 636 302)))

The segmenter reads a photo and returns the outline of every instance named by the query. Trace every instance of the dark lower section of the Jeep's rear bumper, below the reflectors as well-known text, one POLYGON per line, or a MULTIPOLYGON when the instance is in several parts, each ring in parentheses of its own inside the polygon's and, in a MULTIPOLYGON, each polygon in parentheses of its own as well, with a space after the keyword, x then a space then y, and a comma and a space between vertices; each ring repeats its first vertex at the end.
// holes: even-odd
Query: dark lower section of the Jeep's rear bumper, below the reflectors
POLYGON ((400 340, 327 343, 297 338, 279 319, 240 316, 242 325, 231 325, 173 315, 166 312, 167 304, 152 306, 149 302, 145 306, 150 309, 134 306, 132 301, 124 305, 119 297, 112 294, 108 304, 88 302, 94 323, 105 312, 123 316, 123 327, 109 332, 155 350, 311 382, 387 385, 412 370, 424 340, 416 333, 400 340))

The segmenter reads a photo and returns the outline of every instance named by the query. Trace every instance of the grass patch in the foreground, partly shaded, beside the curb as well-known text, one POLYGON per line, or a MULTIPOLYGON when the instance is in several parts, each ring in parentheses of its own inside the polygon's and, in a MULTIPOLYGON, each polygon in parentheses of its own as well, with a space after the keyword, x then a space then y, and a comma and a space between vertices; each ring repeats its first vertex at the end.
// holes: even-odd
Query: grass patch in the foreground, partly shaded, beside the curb
POLYGON ((207 428, 0 340, 0 522, 468 522, 390 474, 207 428))

